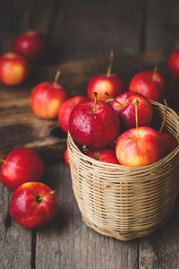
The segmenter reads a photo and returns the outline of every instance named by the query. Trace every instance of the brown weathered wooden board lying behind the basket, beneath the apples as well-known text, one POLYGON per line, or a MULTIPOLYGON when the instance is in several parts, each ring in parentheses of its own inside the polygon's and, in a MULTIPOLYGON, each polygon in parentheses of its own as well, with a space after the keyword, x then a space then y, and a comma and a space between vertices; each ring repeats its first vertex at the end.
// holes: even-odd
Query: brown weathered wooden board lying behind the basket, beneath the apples
MULTIPOLYGON (((158 49, 136 56, 116 57, 113 70, 126 82, 132 75, 151 69, 158 63, 158 70, 167 76, 166 60, 172 49, 158 49)), ((45 161, 59 160, 64 155, 66 135, 58 126, 57 119, 46 120, 36 117, 30 109, 30 92, 38 82, 52 81, 60 69, 64 84, 73 95, 86 95, 88 82, 95 74, 106 72, 107 59, 87 60, 64 65, 38 66, 28 82, 19 87, 0 85, 0 157, 18 146, 28 146, 41 153, 45 161)), ((168 104, 177 109, 179 93, 169 80, 168 104)))

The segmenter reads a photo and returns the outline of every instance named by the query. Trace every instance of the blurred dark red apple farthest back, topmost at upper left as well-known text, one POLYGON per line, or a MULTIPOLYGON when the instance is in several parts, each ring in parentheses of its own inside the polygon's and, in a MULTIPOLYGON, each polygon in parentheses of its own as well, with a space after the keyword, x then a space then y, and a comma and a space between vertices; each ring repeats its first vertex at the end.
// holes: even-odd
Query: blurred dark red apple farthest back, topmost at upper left
POLYGON ((49 45, 43 33, 38 30, 27 30, 13 39, 12 49, 31 62, 37 62, 47 56, 49 45))

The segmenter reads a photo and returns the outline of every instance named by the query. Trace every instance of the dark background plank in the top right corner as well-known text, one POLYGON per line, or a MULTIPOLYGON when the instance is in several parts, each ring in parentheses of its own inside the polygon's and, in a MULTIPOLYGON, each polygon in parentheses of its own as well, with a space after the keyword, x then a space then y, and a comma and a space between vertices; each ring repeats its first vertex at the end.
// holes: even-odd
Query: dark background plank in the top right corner
POLYGON ((146 49, 175 47, 179 40, 179 2, 148 1, 146 49))

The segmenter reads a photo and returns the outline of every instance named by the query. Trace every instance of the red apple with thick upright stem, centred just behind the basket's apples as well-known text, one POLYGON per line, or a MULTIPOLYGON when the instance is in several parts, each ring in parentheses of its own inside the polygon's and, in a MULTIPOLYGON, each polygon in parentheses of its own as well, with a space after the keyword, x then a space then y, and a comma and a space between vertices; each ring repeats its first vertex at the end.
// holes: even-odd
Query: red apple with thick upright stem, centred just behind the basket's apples
POLYGON ((109 66, 107 74, 98 74, 94 76, 88 86, 88 95, 90 100, 94 100, 94 92, 98 93, 98 100, 107 99, 105 92, 115 97, 125 91, 126 84, 118 74, 111 74, 111 68, 114 58, 113 50, 110 53, 109 66))

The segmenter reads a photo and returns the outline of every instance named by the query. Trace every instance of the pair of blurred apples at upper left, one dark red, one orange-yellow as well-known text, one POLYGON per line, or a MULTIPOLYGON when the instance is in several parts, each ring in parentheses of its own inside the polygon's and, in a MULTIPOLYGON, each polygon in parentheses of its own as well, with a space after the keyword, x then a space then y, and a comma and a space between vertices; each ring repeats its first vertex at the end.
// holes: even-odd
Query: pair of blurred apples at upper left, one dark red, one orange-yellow
POLYGON ((0 56, 0 81, 13 86, 24 82, 30 67, 44 60, 49 52, 47 37, 38 30, 22 32, 12 41, 12 52, 0 56))

